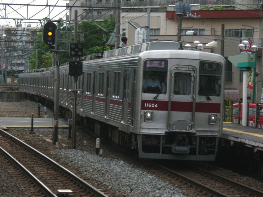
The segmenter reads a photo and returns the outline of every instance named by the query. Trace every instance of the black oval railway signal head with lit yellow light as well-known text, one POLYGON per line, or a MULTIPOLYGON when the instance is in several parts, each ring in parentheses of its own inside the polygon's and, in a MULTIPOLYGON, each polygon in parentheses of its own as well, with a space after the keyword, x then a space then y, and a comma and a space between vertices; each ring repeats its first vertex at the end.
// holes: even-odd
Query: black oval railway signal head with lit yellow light
POLYGON ((43 41, 50 48, 55 44, 56 29, 57 26, 53 22, 47 22, 43 28, 43 41))

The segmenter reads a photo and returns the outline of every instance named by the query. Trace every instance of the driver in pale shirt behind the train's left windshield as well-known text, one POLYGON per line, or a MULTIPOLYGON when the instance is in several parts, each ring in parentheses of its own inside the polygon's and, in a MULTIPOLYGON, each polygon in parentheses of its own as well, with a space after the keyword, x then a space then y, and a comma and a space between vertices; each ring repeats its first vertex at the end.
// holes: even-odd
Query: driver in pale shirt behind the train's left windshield
POLYGON ((158 79, 156 79, 156 72, 150 72, 150 79, 146 79, 142 86, 143 93, 158 93, 161 92, 161 84, 158 79))

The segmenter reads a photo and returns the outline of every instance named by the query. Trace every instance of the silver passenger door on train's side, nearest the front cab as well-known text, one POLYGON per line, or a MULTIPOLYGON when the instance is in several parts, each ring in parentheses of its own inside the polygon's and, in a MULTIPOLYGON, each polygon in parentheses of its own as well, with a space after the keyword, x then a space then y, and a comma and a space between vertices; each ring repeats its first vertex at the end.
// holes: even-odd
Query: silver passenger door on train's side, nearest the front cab
POLYGON ((127 124, 129 98, 129 70, 124 71, 122 96, 122 123, 127 124))

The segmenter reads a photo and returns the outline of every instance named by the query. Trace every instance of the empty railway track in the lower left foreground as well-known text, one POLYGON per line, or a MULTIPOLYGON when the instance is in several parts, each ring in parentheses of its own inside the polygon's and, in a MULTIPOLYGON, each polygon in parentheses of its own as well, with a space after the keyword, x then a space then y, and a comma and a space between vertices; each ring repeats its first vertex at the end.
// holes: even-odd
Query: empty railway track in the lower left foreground
POLYGON ((41 193, 43 196, 70 194, 70 196, 107 197, 100 190, 2 129, 0 144, 1 154, 15 164, 38 190, 41 190, 38 191, 38 195, 41 193))

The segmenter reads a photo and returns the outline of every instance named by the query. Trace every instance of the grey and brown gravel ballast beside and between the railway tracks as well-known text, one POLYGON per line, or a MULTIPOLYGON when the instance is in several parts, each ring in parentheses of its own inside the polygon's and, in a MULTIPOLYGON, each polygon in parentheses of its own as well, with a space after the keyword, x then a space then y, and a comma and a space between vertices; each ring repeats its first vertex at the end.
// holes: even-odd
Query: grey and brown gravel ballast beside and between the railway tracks
MULTIPOLYGON (((37 116, 37 106, 36 102, 29 100, 12 103, 0 102, 0 116, 31 117, 32 113, 37 116)), ((46 107, 47 112, 45 113, 44 107, 42 105, 40 108, 41 117, 52 118, 52 110, 46 107)), ((29 134, 30 128, 27 129, 27 134, 26 128, 9 128, 7 132, 49 156, 94 187, 100 188, 103 192, 106 191, 106 194, 111 197, 208 196, 198 188, 150 167, 149 160, 131 157, 102 140, 99 148, 102 150, 102 155, 96 154, 96 138, 87 134, 80 127, 76 129, 76 149, 71 148, 68 129, 59 128, 59 148, 52 143, 53 128, 34 128, 35 134, 29 134), (42 135, 42 140, 40 140, 40 135, 42 135), (108 193, 109 190, 111 193, 108 193)), ((211 172, 262 190, 262 181, 222 167, 210 166, 209 163, 201 162, 200 165, 210 169, 211 172)), ((12 173, 7 172, 3 167, 0 169, 0 181, 0 196, 32 196, 30 191, 24 187, 23 182, 12 177, 12 173)))

